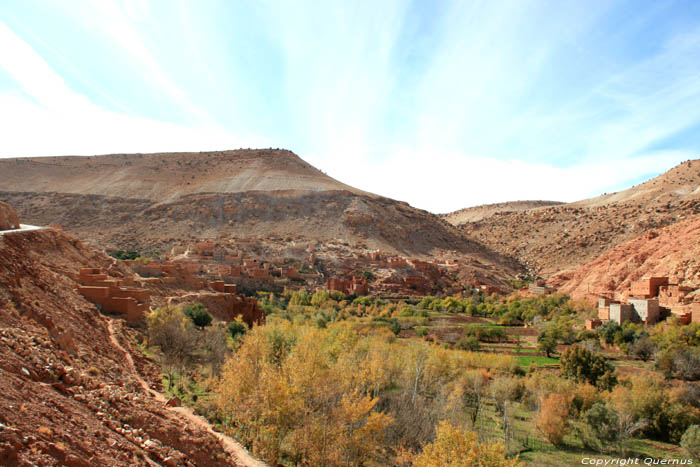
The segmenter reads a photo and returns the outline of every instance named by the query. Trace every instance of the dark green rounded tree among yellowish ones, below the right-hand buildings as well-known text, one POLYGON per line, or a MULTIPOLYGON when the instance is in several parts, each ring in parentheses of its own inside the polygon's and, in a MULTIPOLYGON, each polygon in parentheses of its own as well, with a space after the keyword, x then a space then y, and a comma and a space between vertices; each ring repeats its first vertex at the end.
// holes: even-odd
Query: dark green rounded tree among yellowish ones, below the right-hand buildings
POLYGON ((601 355, 575 345, 570 347, 559 362, 562 375, 579 383, 587 382, 599 389, 612 389, 617 384, 615 369, 601 355))

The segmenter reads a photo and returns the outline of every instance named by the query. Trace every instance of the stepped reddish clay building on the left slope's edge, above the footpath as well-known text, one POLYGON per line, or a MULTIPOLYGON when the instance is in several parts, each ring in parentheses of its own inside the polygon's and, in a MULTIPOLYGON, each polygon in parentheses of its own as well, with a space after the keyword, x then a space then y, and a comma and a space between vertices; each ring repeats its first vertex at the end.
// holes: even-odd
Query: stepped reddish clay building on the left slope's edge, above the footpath
POLYGON ((101 268, 82 268, 78 282, 78 292, 105 313, 117 313, 136 322, 148 311, 150 292, 132 287, 133 278, 112 278, 101 268))

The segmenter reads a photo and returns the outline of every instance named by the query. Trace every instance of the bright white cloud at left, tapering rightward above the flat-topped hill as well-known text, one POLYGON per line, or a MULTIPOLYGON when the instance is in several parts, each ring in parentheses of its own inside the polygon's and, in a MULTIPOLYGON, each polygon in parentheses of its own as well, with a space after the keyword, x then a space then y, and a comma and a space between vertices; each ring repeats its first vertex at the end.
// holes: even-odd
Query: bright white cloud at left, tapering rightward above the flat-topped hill
POLYGON ((72 91, 22 39, 0 23, 0 68, 22 90, 0 93, 0 157, 229 149, 254 135, 183 126, 105 110, 72 91))

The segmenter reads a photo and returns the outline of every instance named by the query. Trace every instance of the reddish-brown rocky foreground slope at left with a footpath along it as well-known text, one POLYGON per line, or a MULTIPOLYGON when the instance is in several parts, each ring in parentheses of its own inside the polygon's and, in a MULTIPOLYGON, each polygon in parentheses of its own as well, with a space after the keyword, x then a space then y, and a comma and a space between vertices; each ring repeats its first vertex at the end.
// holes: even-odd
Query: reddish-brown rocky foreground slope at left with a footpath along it
POLYGON ((0 236, 0 465, 249 464, 152 391, 135 331, 77 293, 88 264, 112 261, 52 229, 0 236))

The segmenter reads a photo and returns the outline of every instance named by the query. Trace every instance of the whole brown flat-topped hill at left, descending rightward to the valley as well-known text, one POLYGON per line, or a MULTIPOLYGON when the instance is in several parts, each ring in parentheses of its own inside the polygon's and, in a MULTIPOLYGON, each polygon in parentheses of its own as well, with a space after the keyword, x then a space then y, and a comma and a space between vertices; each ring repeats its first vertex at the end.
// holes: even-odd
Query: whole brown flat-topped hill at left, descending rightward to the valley
POLYGON ((451 252, 501 278, 519 270, 438 216, 343 185, 289 151, 6 159, 0 170, 0 200, 25 222, 59 224, 107 249, 289 237, 411 257, 451 252))

